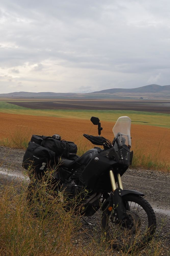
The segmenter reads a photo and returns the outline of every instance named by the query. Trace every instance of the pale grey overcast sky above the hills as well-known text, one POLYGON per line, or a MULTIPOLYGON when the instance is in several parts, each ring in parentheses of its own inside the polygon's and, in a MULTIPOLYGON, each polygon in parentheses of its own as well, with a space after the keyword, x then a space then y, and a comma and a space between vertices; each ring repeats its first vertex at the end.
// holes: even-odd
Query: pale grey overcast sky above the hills
POLYGON ((1 0, 0 93, 170 84, 168 0, 1 0))

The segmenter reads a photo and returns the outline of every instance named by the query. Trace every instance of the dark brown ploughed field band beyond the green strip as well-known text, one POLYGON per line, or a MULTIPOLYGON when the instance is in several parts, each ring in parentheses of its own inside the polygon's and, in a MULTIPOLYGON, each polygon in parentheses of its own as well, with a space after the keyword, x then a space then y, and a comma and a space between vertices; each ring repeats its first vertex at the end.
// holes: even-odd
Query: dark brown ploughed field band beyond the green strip
POLYGON ((135 110, 156 113, 170 113, 169 100, 77 100, 77 99, 53 99, 53 100, 15 100, 7 101, 25 108, 31 109, 79 109, 79 110, 135 110))

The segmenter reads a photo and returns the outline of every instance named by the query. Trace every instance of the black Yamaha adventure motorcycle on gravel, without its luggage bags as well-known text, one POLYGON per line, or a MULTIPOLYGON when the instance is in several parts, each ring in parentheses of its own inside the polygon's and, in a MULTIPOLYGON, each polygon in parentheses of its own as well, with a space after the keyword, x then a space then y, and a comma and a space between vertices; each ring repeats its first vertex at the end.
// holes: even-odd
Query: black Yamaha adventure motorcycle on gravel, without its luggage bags
MULTIPOLYGON (((94 125, 98 125, 98 136, 88 134, 83 136, 94 145, 103 146, 103 149, 94 147, 80 157, 70 153, 73 154, 70 159, 63 155, 58 158, 54 156, 55 163, 54 161, 49 163, 53 170, 52 186, 54 190, 66 193, 70 204, 74 198, 79 198, 78 205, 83 205, 80 207, 83 218, 101 210, 103 236, 112 242, 114 248, 142 247, 151 240, 155 232, 156 218, 152 207, 143 198, 143 193, 123 189, 121 176, 132 164, 133 158, 133 151, 130 151, 131 120, 127 116, 118 118, 113 127, 115 137, 112 143, 100 136, 102 130, 100 120, 96 117, 91 117, 90 120, 94 125)), ((46 138, 41 139, 46 140, 46 138)), ((57 135, 55 139, 59 141, 61 138, 57 135)), ((38 144, 31 145, 35 148, 38 144)), ((40 147, 42 146, 45 147, 41 142, 40 147)), ((33 156, 36 161, 39 159, 35 153, 33 156)), ((45 167, 45 162, 43 164, 38 167, 40 171, 36 173, 37 179, 41 179, 44 175, 41 171, 45 167)), ((35 186, 33 184, 35 182, 30 186, 35 186)), ((85 218, 84 220, 87 222, 85 218)))

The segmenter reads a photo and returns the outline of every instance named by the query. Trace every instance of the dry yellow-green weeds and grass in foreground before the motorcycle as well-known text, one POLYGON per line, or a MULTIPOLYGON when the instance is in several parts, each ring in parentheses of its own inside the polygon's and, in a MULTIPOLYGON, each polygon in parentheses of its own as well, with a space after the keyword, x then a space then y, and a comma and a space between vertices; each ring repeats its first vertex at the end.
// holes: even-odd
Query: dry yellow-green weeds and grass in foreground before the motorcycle
MULTIPOLYGON (((0 255, 2 256, 159 256, 161 241, 156 237, 140 251, 115 251, 101 235, 100 215, 89 228, 80 217, 76 200, 69 207, 66 196, 47 189, 42 181, 37 190, 28 190, 26 180, 1 185, 0 255), (29 201, 30 192, 33 201, 29 201), (78 214, 74 214, 78 211, 78 214)), ((112 239, 114 242, 115 235, 112 239)))

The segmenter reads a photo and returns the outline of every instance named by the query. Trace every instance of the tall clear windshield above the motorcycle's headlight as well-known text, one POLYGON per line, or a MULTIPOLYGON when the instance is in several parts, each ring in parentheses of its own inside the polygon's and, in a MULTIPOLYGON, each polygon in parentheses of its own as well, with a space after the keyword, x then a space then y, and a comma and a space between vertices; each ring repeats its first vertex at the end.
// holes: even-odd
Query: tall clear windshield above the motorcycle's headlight
POLYGON ((121 116, 117 119, 113 127, 114 136, 118 139, 121 146, 131 146, 130 124, 131 119, 128 116, 121 116))

